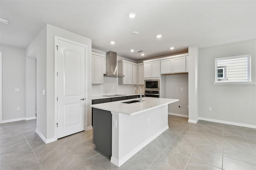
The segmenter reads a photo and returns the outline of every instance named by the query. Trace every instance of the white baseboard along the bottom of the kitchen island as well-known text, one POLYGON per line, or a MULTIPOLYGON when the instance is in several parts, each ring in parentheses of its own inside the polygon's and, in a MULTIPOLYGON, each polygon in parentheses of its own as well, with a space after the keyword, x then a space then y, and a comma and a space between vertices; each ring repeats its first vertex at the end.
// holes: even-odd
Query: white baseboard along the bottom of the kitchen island
POLYGON ((160 134, 162 134, 162 132, 164 132, 168 128, 169 128, 169 126, 166 125, 164 128, 159 130, 156 134, 154 134, 153 136, 151 136, 150 138, 145 140, 142 144, 140 144, 139 146, 134 148, 131 152, 126 154, 124 157, 120 158, 120 160, 111 156, 110 162, 112 162, 113 164, 115 164, 118 167, 121 166, 122 164, 124 164, 124 162, 126 162, 128 159, 130 159, 132 156, 134 156, 134 154, 136 154, 138 151, 140 151, 142 148, 144 148, 147 144, 149 144, 152 140, 154 140, 156 137, 158 137, 160 134))

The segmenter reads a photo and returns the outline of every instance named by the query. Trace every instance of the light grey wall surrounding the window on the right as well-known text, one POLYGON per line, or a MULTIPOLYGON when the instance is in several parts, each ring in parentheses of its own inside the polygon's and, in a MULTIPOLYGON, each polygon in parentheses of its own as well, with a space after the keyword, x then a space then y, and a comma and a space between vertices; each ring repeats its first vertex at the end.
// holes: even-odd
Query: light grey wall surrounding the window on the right
POLYGON ((256 40, 199 50, 199 117, 256 125, 255 85, 213 85, 214 59, 251 55, 252 81, 256 81, 256 40), (212 107, 212 111, 208 111, 212 107))

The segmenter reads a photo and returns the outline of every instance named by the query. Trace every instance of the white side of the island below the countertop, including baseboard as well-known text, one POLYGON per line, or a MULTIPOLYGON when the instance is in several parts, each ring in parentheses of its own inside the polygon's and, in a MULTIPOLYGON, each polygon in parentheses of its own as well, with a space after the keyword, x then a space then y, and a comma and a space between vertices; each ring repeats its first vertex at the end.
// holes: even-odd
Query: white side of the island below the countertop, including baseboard
POLYGON ((117 127, 112 128, 111 162, 121 166, 168 129, 168 105, 132 116, 112 113, 112 121, 117 127))

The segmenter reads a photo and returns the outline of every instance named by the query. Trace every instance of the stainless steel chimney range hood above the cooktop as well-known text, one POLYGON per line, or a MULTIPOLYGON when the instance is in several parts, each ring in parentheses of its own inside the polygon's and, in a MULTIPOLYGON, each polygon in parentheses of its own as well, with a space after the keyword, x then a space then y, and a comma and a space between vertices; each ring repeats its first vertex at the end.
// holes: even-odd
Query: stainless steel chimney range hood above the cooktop
POLYGON ((124 77, 117 74, 117 54, 113 51, 106 52, 106 74, 104 77, 124 77))

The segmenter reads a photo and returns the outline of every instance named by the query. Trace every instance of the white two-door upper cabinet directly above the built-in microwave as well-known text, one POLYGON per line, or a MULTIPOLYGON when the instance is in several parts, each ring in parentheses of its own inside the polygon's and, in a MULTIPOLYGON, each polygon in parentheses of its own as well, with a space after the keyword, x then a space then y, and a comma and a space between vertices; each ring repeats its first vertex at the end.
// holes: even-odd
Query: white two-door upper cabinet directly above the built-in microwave
POLYGON ((144 78, 160 77, 160 61, 144 63, 144 78))

